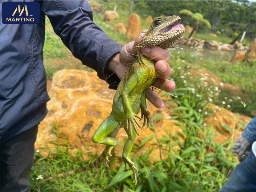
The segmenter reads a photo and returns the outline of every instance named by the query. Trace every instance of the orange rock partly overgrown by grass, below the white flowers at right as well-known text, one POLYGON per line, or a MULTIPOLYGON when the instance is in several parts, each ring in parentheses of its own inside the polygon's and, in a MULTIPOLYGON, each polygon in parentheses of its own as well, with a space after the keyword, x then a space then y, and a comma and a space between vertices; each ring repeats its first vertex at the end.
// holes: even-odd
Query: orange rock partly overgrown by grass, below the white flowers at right
MULTIPOLYGON (((212 134, 218 134, 214 141, 218 143, 224 143, 228 139, 232 138, 233 136, 233 142, 239 137, 239 135, 242 134, 245 127, 242 127, 238 122, 242 122, 245 124, 245 126, 252 120, 252 118, 239 115, 239 118, 236 120, 236 116, 238 114, 232 113, 231 111, 220 108, 217 105, 211 104, 211 107, 213 110, 217 111, 215 114, 213 114, 210 117, 206 117, 204 119, 205 123, 210 123, 213 127, 213 133, 212 134), (225 129, 225 126, 228 126, 229 129, 225 129), (233 130, 234 128, 234 130, 233 130)), ((207 124, 207 128, 210 126, 207 124)))

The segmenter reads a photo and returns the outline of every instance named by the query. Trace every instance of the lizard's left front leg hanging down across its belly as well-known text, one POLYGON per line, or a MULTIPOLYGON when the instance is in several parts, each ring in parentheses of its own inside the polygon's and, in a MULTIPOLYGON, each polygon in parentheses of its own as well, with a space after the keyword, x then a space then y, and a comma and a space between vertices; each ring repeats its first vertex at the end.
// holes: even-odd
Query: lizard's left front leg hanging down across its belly
POLYGON ((129 93, 135 88, 135 86, 138 84, 138 76, 136 74, 132 74, 132 76, 129 78, 129 80, 126 82, 124 89, 122 91, 122 101, 123 101, 123 107, 124 107, 124 112, 126 116, 126 125, 129 130, 128 136, 132 138, 132 125, 134 127, 135 132, 137 135, 139 135, 139 132, 137 130, 136 124, 140 127, 140 123, 137 121, 136 117, 138 117, 140 120, 140 116, 135 114, 132 110, 132 105, 129 100, 129 93), (136 123, 136 124, 135 124, 136 123))

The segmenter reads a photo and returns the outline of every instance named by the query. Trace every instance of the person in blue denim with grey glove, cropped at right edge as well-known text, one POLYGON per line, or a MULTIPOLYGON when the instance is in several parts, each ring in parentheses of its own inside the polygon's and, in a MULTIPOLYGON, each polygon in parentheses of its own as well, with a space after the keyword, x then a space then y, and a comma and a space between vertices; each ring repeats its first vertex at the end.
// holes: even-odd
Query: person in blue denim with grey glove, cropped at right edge
POLYGON ((236 139, 232 152, 238 154, 241 163, 220 191, 256 191, 256 117, 236 139))

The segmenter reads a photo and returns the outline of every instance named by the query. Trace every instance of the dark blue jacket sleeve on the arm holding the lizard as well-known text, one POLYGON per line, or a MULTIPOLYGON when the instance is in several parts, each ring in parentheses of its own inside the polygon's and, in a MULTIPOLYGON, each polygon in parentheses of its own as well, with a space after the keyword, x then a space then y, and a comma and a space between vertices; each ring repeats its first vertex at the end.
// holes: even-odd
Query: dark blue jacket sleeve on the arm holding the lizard
MULTIPOLYGON (((48 16, 54 32, 73 55, 84 65, 97 71, 106 80, 108 60, 120 52, 122 46, 110 39, 93 22, 92 9, 87 1, 44 1, 41 11, 48 16)), ((116 88, 120 80, 116 74, 109 76, 110 88, 116 88)))

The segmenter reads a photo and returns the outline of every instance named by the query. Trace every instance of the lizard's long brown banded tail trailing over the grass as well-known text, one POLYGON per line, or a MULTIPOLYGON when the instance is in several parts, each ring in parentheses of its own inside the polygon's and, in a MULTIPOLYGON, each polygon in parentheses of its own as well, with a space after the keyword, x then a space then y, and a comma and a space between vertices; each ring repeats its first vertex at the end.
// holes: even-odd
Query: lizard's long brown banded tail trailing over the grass
POLYGON ((86 167, 81 167, 80 169, 74 170, 74 171, 70 171, 70 172, 66 172, 66 173, 60 173, 58 175, 52 176, 52 177, 48 177, 44 180, 41 180, 40 182, 38 182, 38 184, 44 182, 44 181, 48 181, 48 180, 52 180, 58 177, 63 177, 63 176, 67 176, 67 175, 72 175, 72 174, 76 174, 79 172, 84 172, 87 170, 92 169, 93 167, 96 167, 98 164, 102 163, 103 160, 106 158, 107 155, 107 147, 103 150, 103 152, 101 153, 101 155, 91 164, 87 165, 86 167))

